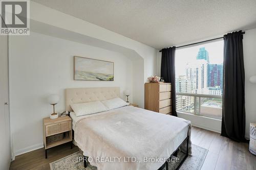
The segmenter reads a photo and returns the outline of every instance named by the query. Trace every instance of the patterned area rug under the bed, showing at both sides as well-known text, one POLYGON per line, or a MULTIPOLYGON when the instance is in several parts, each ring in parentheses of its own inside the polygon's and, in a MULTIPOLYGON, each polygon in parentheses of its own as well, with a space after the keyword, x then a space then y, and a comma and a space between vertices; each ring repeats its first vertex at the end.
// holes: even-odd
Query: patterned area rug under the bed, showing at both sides
MULTIPOLYGON (((180 167, 180 170, 183 169, 190 169, 190 170, 200 170, 204 159, 208 153, 207 149, 198 147, 195 144, 192 144, 192 153, 193 156, 188 156, 185 162, 180 167)), ((56 160, 54 162, 50 163, 51 170, 97 170, 97 167, 92 166, 88 164, 87 168, 83 167, 83 162, 78 161, 78 158, 82 158, 82 152, 78 151, 74 154, 71 154, 69 156, 66 156, 65 158, 61 158, 59 160, 56 160)), ((178 156, 180 160, 182 160, 185 157, 185 154, 182 152, 178 153, 178 156)), ((173 170, 179 166, 179 162, 172 164, 168 164, 168 170, 173 170)), ((165 169, 165 168, 164 168, 165 169)))

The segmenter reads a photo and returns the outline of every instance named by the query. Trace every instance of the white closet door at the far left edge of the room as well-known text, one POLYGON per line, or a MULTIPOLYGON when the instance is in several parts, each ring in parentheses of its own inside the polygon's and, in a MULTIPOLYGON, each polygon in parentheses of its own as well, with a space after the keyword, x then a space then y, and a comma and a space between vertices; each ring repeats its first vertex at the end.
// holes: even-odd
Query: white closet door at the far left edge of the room
POLYGON ((8 37, 0 35, 0 169, 9 169, 10 143, 8 37))

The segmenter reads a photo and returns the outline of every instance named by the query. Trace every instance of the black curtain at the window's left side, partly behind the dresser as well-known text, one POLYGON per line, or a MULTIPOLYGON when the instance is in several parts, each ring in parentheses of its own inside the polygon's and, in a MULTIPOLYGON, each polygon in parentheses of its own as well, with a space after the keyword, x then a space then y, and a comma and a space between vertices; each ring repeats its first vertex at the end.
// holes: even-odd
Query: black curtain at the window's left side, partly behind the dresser
POLYGON ((162 49, 161 78, 166 83, 172 83, 172 115, 177 116, 176 112, 176 91, 175 91, 175 49, 169 47, 162 49))

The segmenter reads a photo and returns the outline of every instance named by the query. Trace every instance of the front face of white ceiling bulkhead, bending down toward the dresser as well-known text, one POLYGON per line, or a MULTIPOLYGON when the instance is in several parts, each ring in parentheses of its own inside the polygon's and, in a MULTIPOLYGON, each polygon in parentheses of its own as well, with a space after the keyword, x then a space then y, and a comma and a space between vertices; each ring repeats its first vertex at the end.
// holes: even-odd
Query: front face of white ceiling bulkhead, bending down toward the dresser
MULTIPOLYGON (((30 18, 31 22, 38 21, 45 25, 66 29, 67 31, 129 48, 138 53, 144 59, 144 82, 147 81, 147 77, 156 74, 157 50, 153 47, 33 1, 30 2, 30 18)), ((33 28, 31 27, 31 29, 33 28)))

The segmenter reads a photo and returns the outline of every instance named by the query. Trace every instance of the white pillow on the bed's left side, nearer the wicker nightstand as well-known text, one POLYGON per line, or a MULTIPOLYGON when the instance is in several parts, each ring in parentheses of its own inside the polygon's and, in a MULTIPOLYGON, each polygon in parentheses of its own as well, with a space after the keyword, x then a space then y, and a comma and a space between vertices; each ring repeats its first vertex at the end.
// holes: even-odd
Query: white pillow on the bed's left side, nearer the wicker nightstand
POLYGON ((70 105, 76 116, 93 114, 108 110, 100 101, 88 103, 76 103, 70 105))

